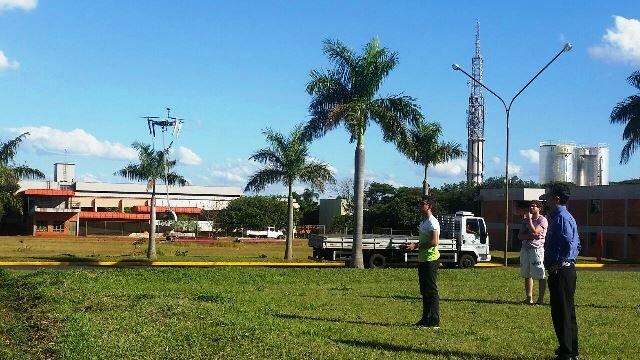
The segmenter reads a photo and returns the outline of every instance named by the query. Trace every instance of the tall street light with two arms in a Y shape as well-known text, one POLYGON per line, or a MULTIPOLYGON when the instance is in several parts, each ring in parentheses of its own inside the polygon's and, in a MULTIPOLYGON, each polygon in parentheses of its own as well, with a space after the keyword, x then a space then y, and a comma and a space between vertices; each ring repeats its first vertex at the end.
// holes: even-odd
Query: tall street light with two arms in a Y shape
POLYGON ((460 65, 458 65, 458 64, 451 65, 451 67, 453 68, 454 71, 460 71, 463 74, 467 75, 467 77, 469 79, 471 79, 471 81, 474 81, 474 82, 478 83, 480 86, 482 86, 487 91, 489 91, 491 94, 493 94, 495 97, 497 97, 498 100, 500 100, 500 102, 504 106, 504 111, 506 113, 506 119, 507 119, 507 122, 506 122, 506 127, 507 127, 507 131, 506 131, 507 149, 506 149, 506 156, 505 156, 506 159, 505 159, 505 164, 504 164, 504 183, 505 183, 505 187, 504 187, 504 200, 505 200, 505 206, 504 206, 505 207, 505 213, 504 213, 504 266, 507 266, 507 246, 509 244, 509 113, 511 112, 511 105, 513 105, 513 102, 515 101, 515 99, 518 96, 520 96, 520 94, 522 94, 524 89, 526 89, 533 82, 533 80, 535 80, 547 67, 549 67, 549 65, 551 65, 554 61, 556 61, 556 59, 559 58, 560 55, 562 55, 563 53, 571 51, 572 48, 573 48, 573 45, 571 45, 571 43, 564 44, 562 49, 560 51, 558 51, 558 53, 553 57, 553 59, 551 59, 547 63, 547 65, 545 65, 542 69, 540 69, 540 71, 538 71, 538 73, 534 77, 532 77, 531 80, 529 80, 529 82, 527 82, 525 84, 525 86, 523 86, 522 89, 520 89, 520 91, 518 91, 516 93, 516 95, 509 102, 509 105, 507 105, 507 103, 502 99, 502 97, 500 97, 500 95, 496 94, 493 90, 489 89, 485 84, 483 84, 482 82, 478 81, 473 76, 469 75, 469 73, 466 72, 460 65))

